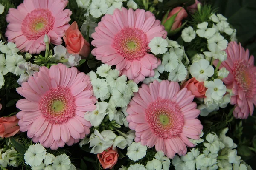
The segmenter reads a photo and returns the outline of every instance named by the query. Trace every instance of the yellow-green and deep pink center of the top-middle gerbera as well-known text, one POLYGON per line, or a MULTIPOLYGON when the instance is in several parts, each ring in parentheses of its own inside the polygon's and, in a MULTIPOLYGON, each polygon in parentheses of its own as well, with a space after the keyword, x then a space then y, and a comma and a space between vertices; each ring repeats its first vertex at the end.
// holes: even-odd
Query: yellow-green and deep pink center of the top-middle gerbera
POLYGON ((142 30, 129 27, 116 34, 112 46, 126 60, 140 59, 149 49, 147 35, 142 30))

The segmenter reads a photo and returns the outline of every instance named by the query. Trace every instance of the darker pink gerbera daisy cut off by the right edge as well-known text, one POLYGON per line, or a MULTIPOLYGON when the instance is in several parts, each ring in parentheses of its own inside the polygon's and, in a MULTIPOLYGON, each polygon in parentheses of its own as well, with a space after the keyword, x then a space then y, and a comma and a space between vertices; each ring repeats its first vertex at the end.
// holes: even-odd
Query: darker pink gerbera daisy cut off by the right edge
MULTIPOLYGON (((235 105, 233 115, 237 119, 247 119, 253 114, 256 105, 256 67, 254 57, 249 55, 237 42, 230 42, 227 49, 227 60, 221 62, 220 69, 225 67, 230 73, 222 79, 227 89, 232 89, 230 103, 235 105)), ((215 66, 218 60, 214 61, 215 66)))

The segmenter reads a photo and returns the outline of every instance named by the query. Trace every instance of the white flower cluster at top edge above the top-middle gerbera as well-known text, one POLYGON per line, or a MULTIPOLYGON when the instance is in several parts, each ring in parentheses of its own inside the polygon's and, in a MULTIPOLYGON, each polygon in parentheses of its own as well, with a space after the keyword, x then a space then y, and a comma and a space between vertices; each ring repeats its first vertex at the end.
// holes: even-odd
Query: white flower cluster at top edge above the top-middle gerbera
MULTIPOLYGON (((89 8, 90 14, 94 18, 99 18, 102 14, 113 14, 115 9, 121 9, 123 7, 122 2, 126 0, 76 0, 79 7, 87 9, 89 8)), ((128 8, 137 9, 138 5, 133 0, 128 1, 128 8)), ((86 14, 87 15, 87 14, 86 14)))

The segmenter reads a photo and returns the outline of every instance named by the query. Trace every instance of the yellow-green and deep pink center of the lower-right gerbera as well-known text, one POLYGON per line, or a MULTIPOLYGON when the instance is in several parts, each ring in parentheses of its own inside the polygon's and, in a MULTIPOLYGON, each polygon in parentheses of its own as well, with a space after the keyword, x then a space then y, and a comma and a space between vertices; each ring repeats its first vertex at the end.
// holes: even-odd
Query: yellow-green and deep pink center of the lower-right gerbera
POLYGON ((145 114, 157 137, 172 138, 180 136, 184 125, 184 116, 176 102, 158 98, 148 106, 145 114))

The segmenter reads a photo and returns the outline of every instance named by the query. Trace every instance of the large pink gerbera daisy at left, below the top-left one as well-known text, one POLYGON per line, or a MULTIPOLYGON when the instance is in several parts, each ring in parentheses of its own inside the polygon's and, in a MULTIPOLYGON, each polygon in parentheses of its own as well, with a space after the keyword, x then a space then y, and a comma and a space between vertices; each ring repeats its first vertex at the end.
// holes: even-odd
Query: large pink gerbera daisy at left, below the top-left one
POLYGON ((63 64, 38 73, 23 82, 17 92, 26 99, 17 102, 20 131, 52 150, 71 146, 90 133, 84 113, 96 109, 90 77, 63 64))

